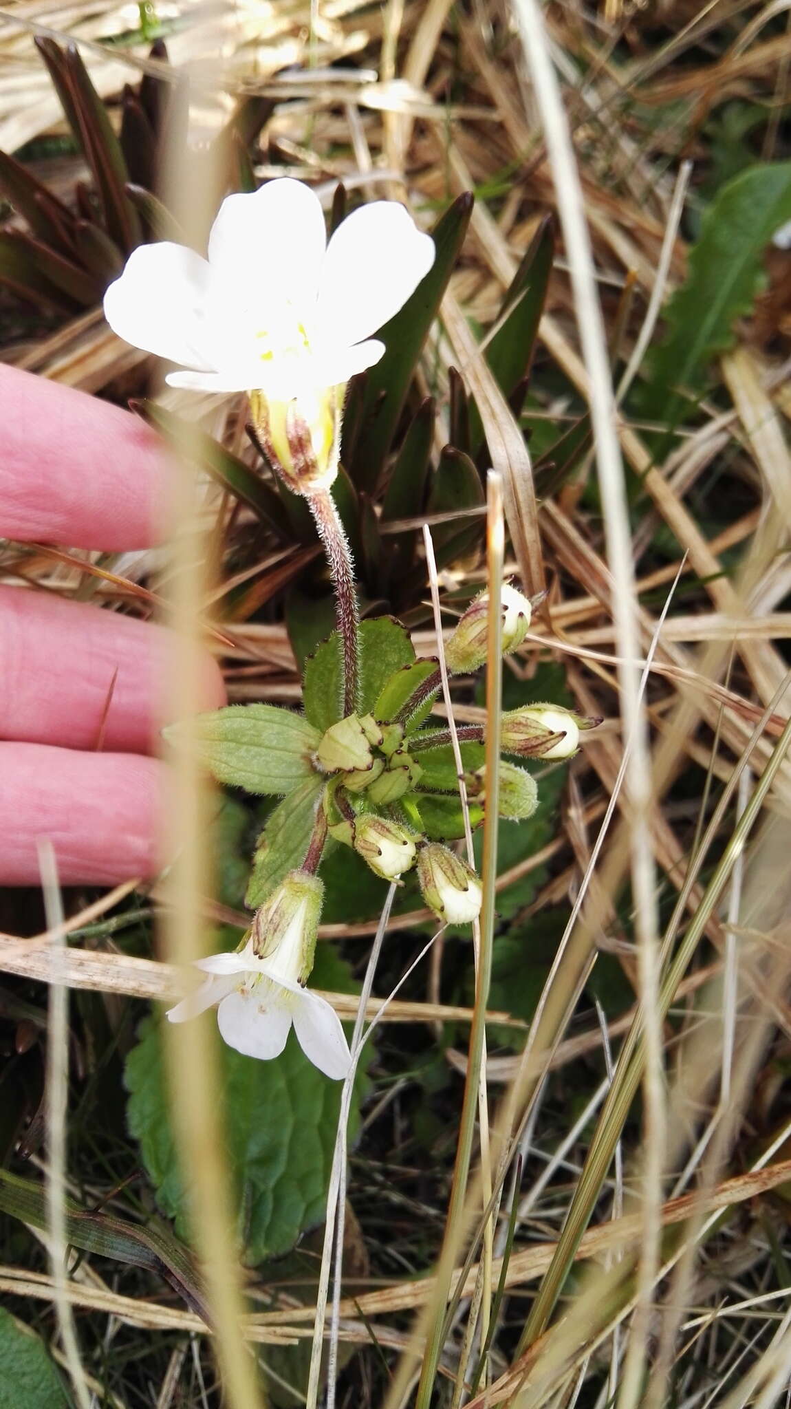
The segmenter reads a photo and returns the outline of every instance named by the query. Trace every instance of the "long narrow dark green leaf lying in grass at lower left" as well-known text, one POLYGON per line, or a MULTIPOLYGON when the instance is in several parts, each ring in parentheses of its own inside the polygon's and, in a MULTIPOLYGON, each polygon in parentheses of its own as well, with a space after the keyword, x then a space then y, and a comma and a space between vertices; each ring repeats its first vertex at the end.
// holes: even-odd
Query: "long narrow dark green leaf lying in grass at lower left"
MULTIPOLYGON (((37 1229, 48 1226, 42 1184, 21 1179, 0 1169, 0 1209, 37 1229)), ((82 1209, 66 1198, 66 1241, 86 1253, 97 1253, 129 1267, 144 1267, 163 1277, 184 1298, 187 1306, 203 1316, 208 1309, 187 1250, 170 1233, 158 1227, 127 1223, 108 1213, 82 1209)), ((17 1405, 14 1405, 17 1409, 17 1405)))

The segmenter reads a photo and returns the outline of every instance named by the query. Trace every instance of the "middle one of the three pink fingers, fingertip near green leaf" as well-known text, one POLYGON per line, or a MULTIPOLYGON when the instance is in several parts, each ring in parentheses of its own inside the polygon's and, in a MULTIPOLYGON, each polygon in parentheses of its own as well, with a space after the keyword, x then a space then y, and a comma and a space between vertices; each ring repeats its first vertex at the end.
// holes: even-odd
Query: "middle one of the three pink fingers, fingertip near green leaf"
MULTIPOLYGON (((0 586, 0 738, 151 752, 166 719, 173 637, 160 626, 0 586)), ((225 703, 205 654, 196 710, 225 703)))

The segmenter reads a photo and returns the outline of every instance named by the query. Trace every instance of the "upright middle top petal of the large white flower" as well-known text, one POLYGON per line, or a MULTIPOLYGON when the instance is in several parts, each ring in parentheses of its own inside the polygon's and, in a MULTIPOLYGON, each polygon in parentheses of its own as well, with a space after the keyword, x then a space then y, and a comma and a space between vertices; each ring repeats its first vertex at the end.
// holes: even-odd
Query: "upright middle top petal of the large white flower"
POLYGON ((312 310, 325 244, 318 196, 286 176, 225 197, 208 237, 208 261, 245 307, 291 302, 312 310))

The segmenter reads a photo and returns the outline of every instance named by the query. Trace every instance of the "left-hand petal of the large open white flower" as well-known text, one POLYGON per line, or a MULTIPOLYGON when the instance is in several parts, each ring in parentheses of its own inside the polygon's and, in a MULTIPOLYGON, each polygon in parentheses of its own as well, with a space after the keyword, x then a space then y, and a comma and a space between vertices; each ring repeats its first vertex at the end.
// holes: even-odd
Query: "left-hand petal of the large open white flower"
POLYGON ((104 317, 125 342, 204 372, 217 364, 208 316, 211 271, 194 249, 139 245, 104 294, 104 317))

